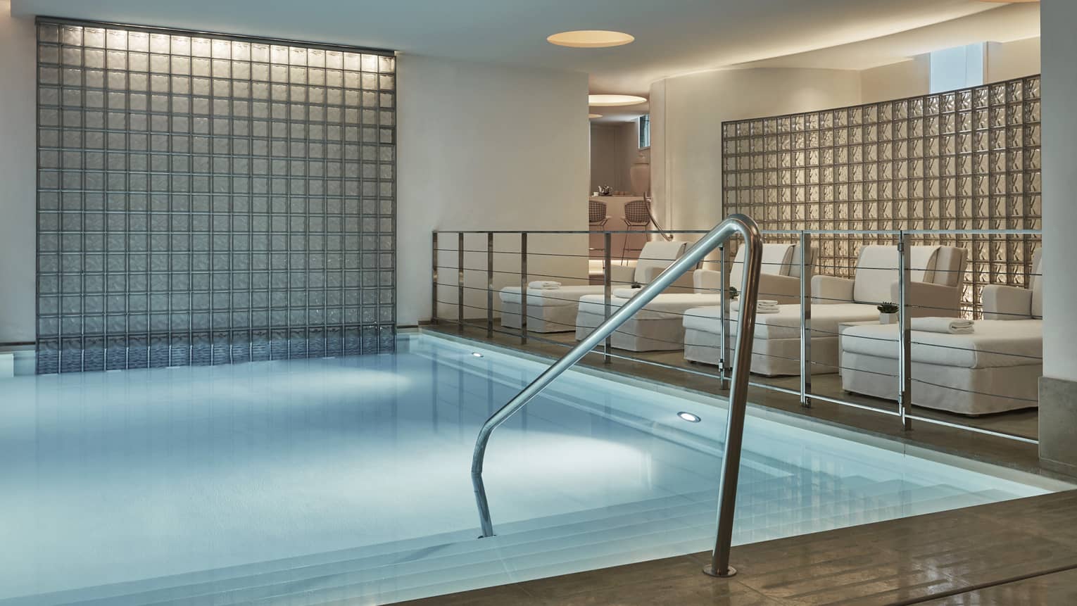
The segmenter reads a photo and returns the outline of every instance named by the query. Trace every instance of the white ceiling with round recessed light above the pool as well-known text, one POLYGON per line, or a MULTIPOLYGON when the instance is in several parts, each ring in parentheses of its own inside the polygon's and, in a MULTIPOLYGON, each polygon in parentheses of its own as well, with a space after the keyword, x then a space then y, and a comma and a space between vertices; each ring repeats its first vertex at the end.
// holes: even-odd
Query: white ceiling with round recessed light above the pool
MULTIPOLYGON (((1026 17, 1035 13, 1038 33, 1037 5, 978 0, 12 0, 13 12, 20 15, 577 70, 590 74, 591 93, 635 95, 647 95, 652 82, 668 75, 757 61, 803 61, 839 69, 894 62, 915 54, 910 50, 966 42, 951 44, 962 36, 940 33, 945 27, 915 42, 893 34, 984 11, 978 23, 1006 33, 1011 19, 988 17, 1002 17, 1015 9, 1031 11, 1026 17), (571 29, 626 31, 635 42, 613 48, 567 48, 545 40, 571 29), (857 46, 880 37, 889 38, 857 46)), ((1027 22, 1021 27, 1027 29, 1027 22)), ((1010 39, 1022 37, 1026 36, 1010 39)), ((984 40, 980 34, 973 38, 984 40)))

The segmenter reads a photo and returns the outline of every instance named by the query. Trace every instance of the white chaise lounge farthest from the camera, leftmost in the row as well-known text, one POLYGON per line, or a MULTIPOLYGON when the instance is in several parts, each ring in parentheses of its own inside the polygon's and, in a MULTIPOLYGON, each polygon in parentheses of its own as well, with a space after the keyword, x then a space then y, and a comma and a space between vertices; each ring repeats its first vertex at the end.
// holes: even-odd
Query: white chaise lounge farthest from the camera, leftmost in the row
MULTIPOLYGON (((688 242, 655 240, 643 245, 634 267, 614 266, 612 281, 615 288, 639 282, 646 284, 676 260, 688 248, 688 242)), ((690 277, 687 279, 690 281, 690 277)), ((576 309, 579 297, 602 295, 604 287, 593 284, 563 285, 559 288, 528 288, 528 332, 568 333, 576 329, 576 309)), ((501 290, 501 325, 520 327, 520 287, 501 290)))

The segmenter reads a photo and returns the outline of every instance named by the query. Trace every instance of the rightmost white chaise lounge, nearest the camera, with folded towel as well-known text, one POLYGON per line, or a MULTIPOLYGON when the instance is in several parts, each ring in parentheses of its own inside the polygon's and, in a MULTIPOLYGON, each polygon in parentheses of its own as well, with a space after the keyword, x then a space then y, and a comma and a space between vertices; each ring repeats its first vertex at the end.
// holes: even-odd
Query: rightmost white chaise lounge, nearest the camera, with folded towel
MULTIPOLYGON (((1043 375, 1043 280, 1037 252, 1031 290, 983 288, 983 318, 968 335, 912 333, 912 404, 987 414, 1038 406, 1043 375)), ((897 399, 897 327, 853 326, 841 337, 841 386, 897 399)))

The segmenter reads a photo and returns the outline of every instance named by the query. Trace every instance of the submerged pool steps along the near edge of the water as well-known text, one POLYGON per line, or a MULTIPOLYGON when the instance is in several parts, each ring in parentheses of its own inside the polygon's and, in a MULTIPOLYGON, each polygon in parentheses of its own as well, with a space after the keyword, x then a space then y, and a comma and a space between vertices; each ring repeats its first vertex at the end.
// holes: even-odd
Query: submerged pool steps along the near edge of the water
MULTIPOLYGON (((797 476, 746 474, 740 542, 990 501, 942 485, 844 478, 814 487, 797 476), (807 495, 807 496, 806 496, 807 495)), ((825 478, 825 476, 824 476, 825 478)), ((359 604, 407 600, 707 549, 715 490, 666 496, 474 531, 249 566, 38 596, 15 604, 359 604), (45 600, 41 600, 45 597, 45 600)))

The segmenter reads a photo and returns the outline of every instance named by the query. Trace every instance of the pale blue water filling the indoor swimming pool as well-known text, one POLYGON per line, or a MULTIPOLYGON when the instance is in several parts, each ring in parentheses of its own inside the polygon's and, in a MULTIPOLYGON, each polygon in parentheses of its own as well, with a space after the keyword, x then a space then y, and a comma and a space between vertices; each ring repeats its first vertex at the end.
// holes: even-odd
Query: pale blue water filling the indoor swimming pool
MULTIPOLYGON (((723 403, 577 371, 494 433, 474 538, 476 432, 546 364, 424 335, 0 381, 0 604, 378 604, 709 548, 723 403)), ((744 443, 736 542, 1066 488, 774 413, 744 443)))

